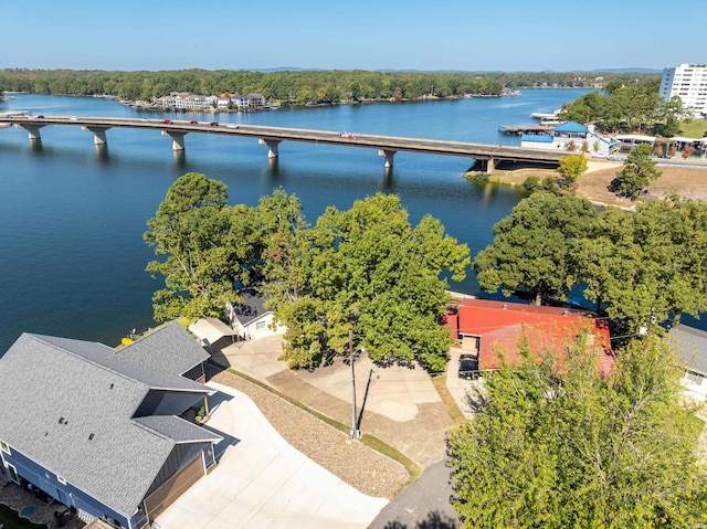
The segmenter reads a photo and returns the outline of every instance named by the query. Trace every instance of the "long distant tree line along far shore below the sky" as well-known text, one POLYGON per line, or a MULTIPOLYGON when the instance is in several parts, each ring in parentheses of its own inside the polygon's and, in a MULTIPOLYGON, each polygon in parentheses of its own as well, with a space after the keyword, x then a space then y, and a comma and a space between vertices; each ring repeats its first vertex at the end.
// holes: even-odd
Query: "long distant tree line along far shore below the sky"
POLYGON ((107 72, 0 70, 7 91, 48 95, 110 95, 150 100, 170 92, 203 95, 262 94, 283 104, 419 99, 423 96, 499 95, 505 87, 594 87, 598 82, 651 77, 646 74, 431 73, 354 71, 180 70, 107 72), (602 77, 597 81, 597 77, 602 77))

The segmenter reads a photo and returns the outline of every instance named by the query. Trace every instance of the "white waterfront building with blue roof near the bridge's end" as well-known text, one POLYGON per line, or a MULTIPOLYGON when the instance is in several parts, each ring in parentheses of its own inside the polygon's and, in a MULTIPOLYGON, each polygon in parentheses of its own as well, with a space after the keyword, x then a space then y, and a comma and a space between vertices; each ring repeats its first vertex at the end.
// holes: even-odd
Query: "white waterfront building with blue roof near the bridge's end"
POLYGON ((557 125, 549 135, 523 135, 520 147, 527 149, 544 150, 570 150, 585 151, 594 155, 612 155, 619 150, 619 141, 613 137, 603 137, 594 133, 594 126, 585 127, 577 121, 567 121, 557 125))

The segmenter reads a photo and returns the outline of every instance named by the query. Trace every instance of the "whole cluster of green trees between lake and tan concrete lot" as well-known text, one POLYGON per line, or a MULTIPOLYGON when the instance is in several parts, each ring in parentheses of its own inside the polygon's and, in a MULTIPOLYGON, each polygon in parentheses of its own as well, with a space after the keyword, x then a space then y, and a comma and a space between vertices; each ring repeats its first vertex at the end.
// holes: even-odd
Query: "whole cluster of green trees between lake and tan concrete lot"
POLYGON ((147 271, 165 278, 152 298, 158 321, 220 317, 240 300, 238 285, 256 287, 287 327, 283 359, 295 368, 348 353, 352 336, 378 362, 444 370, 452 340, 439 325, 449 301, 441 275, 463 279, 468 247, 430 215, 412 226, 397 197, 329 207, 309 224, 294 194, 229 207, 225 184, 187 173, 148 228, 161 258, 147 271))

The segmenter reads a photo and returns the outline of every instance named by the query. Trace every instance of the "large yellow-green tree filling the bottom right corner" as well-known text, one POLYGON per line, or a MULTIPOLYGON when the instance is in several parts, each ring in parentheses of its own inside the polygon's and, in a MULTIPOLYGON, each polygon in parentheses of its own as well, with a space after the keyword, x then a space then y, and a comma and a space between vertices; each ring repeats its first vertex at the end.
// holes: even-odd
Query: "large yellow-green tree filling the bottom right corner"
POLYGON ((462 527, 705 523, 698 432, 678 403, 668 346, 655 336, 633 342, 606 377, 585 339, 568 355, 558 373, 526 346, 520 369, 485 378, 486 404, 449 442, 462 527))

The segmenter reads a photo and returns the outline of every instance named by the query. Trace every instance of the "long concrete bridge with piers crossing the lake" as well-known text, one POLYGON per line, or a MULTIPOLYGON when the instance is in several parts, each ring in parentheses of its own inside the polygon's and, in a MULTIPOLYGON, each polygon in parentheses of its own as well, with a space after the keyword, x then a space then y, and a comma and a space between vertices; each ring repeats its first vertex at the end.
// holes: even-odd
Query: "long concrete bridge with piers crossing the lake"
POLYGON ((76 116, 27 116, 0 115, 1 126, 14 125, 28 131, 30 140, 41 139, 40 130, 49 125, 78 126, 93 134, 94 142, 107 142, 106 130, 110 128, 136 128, 159 130, 169 136, 173 150, 184 149, 187 134, 218 134, 255 138, 267 147, 267 156, 276 158, 282 141, 304 141, 308 144, 338 145, 378 150, 384 158, 384 166, 392 167, 397 152, 419 152, 424 155, 445 155, 474 158, 482 162, 482 170, 494 171, 499 161, 539 163, 557 167, 562 157, 570 152, 542 151, 520 147, 471 144, 442 139, 405 138, 399 136, 379 136, 371 134, 344 134, 328 130, 308 130, 303 128, 266 127, 260 125, 235 125, 218 121, 192 121, 181 119, 140 119, 117 117, 76 117, 76 116))

